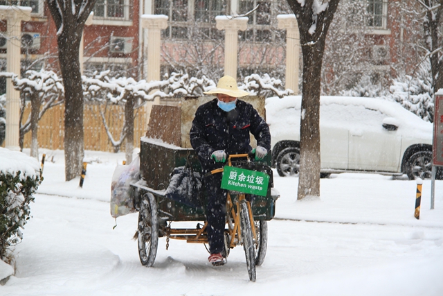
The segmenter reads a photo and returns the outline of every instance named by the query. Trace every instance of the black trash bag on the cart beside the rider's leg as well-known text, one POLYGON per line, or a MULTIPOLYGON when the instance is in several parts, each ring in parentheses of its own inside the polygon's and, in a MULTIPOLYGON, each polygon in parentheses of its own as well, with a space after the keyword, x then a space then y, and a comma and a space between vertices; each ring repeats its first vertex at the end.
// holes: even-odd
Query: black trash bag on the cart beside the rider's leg
POLYGON ((189 207, 202 207, 201 175, 189 166, 174 168, 165 196, 189 207))

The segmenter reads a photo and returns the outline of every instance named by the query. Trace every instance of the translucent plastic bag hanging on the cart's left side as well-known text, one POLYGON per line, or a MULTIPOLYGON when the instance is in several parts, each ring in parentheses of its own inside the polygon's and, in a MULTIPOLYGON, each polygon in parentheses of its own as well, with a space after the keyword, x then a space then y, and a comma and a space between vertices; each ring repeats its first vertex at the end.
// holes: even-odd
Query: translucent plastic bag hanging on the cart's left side
POLYGON ((130 184, 140 179, 140 158, 137 157, 129 166, 117 165, 111 180, 111 216, 124 216, 136 211, 134 200, 129 194, 130 184))

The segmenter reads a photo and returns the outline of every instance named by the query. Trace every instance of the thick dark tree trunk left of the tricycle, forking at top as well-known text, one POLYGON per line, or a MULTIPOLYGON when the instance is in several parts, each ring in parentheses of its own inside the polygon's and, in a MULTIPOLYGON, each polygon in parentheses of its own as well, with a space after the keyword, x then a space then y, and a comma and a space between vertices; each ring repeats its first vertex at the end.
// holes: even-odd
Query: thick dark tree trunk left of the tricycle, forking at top
POLYGON ((84 23, 96 0, 48 0, 57 28, 60 70, 64 85, 64 173, 66 181, 82 172, 83 92, 78 59, 84 23))

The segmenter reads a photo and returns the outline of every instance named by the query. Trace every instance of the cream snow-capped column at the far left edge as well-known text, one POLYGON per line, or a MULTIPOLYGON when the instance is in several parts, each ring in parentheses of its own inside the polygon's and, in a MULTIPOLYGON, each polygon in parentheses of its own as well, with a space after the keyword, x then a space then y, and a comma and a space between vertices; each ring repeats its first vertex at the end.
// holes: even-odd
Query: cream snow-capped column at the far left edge
MULTIPOLYGON (((6 19, 6 71, 20 77, 21 21, 30 21, 30 7, 0 6, 0 18, 6 19)), ((6 139, 5 147, 20 150, 20 92, 6 79, 6 139)))

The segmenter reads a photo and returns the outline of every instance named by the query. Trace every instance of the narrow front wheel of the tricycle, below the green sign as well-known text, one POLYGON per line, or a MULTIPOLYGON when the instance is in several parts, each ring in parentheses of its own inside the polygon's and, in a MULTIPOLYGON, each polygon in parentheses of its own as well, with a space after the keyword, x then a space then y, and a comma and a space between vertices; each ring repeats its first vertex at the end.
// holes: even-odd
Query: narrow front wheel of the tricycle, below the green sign
POLYGON ((255 281, 255 249, 253 243, 253 234, 251 227, 251 219, 249 219, 249 211, 246 200, 240 202, 240 223, 242 227, 242 241, 244 254, 246 255, 246 267, 250 281, 255 281))

